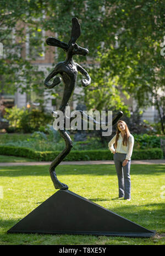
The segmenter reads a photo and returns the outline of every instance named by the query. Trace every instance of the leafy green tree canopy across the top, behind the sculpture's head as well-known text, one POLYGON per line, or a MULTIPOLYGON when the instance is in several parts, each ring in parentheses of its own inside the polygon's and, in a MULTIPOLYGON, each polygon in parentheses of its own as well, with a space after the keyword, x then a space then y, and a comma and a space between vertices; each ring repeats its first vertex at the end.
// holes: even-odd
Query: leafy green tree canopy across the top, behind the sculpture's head
MULTIPOLYGON (((163 0, 133 0, 129 4, 127 0, 9 0, 0 5, 0 42, 7 55, 0 59, 1 90, 3 86, 5 90, 29 89, 24 81, 30 80, 35 67, 18 54, 27 40, 26 24, 32 31, 52 31, 68 42, 71 19, 77 17, 81 24, 78 44, 89 49, 88 71, 92 75, 91 91, 84 90, 87 106, 124 108, 119 94, 123 91, 135 97, 139 106, 155 104, 164 120, 163 0), (19 37, 17 42, 9 39, 12 31, 19 37)), ((58 50, 56 62, 63 58, 63 51, 58 50)), ((86 63, 86 58, 76 57, 75 61, 86 63)), ((30 86, 37 90, 37 78, 30 86)))

